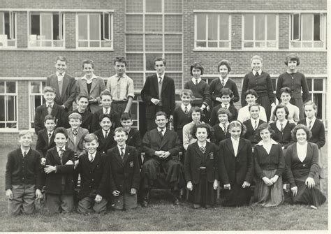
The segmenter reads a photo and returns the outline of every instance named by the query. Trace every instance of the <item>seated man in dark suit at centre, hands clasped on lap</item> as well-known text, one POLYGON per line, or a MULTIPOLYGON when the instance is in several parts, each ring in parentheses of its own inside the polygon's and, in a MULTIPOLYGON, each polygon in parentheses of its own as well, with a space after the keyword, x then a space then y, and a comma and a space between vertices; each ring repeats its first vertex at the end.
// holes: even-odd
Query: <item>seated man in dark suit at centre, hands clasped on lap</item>
POLYGON ((165 172, 165 182, 172 189, 175 205, 179 205, 179 190, 184 186, 182 166, 178 153, 182 148, 177 133, 166 129, 168 117, 165 112, 156 112, 156 129, 147 131, 142 139, 142 149, 146 153, 145 163, 142 164, 142 207, 148 205, 148 192, 158 179, 160 171, 165 172))

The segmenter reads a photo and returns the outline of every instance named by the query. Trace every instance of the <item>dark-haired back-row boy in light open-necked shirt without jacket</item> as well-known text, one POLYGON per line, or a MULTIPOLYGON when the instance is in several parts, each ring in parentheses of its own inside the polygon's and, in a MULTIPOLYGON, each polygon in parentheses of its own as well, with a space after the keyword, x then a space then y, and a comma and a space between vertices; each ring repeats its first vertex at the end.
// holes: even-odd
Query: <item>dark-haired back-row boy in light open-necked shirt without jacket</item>
POLYGON ((123 112, 131 110, 135 89, 133 80, 125 73, 125 58, 116 57, 114 59, 114 67, 116 74, 108 78, 106 87, 112 94, 112 108, 121 116, 123 112))

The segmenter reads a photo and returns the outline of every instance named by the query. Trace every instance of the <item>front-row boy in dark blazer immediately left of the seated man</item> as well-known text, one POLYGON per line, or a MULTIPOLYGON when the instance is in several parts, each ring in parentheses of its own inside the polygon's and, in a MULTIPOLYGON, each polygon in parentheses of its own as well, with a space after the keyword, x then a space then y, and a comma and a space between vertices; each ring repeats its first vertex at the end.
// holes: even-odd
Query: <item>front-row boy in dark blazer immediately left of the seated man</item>
POLYGON ((135 147, 126 145, 128 133, 119 127, 115 129, 117 146, 109 149, 110 192, 114 208, 118 210, 137 207, 137 191, 140 183, 140 166, 135 147))

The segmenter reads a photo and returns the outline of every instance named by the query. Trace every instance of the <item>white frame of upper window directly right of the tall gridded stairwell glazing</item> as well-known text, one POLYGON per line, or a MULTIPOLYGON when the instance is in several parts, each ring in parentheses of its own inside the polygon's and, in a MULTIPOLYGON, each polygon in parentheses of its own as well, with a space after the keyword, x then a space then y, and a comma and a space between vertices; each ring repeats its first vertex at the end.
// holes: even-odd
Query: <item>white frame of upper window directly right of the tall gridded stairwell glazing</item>
POLYGON ((230 13, 203 13, 206 14, 206 25, 205 25, 205 33, 206 38, 205 40, 198 40, 198 14, 203 12, 195 13, 194 14, 194 50, 230 50, 231 49, 231 31, 232 31, 232 15, 230 13), (208 40, 208 20, 210 14, 217 14, 217 40, 216 41, 209 41, 208 40), (228 40, 220 40, 219 34, 219 24, 220 24, 220 15, 228 15, 228 40), (198 47, 197 42, 205 42, 206 47, 198 47), (217 47, 208 47, 208 42, 216 42, 217 47), (222 42, 228 43, 228 47, 220 47, 219 44, 222 42))

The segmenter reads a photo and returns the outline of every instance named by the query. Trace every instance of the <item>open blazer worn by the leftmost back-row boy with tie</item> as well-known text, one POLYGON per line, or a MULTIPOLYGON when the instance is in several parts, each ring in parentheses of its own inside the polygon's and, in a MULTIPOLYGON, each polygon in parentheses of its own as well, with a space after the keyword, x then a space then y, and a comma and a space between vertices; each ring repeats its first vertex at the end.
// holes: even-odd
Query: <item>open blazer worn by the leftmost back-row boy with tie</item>
POLYGON ((46 86, 53 87, 56 92, 54 102, 58 105, 64 105, 66 110, 72 110, 73 101, 75 101, 75 83, 76 80, 67 73, 64 75, 62 84, 61 96, 59 92, 59 83, 57 82, 57 74, 50 75, 47 77, 46 86))

